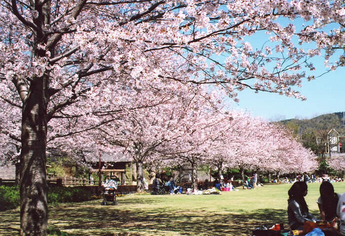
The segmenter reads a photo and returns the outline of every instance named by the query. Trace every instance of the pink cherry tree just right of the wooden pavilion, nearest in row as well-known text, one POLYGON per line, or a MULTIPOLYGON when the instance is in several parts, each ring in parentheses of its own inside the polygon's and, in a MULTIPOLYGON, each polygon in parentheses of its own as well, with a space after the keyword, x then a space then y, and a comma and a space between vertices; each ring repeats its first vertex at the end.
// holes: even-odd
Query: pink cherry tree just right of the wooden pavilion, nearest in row
MULTIPOLYGON (((188 96, 182 93, 182 90, 185 90, 182 87, 184 85, 178 89, 178 92, 165 94, 159 105, 140 109, 127 108, 123 111, 121 119, 103 125, 97 130, 100 140, 104 140, 109 145, 123 147, 123 152, 128 152, 132 157, 136 164, 138 192, 144 190, 143 164, 158 158, 156 151, 157 149, 161 151, 161 146, 168 146, 169 144, 166 143, 184 135, 181 127, 183 127, 182 123, 189 122, 186 115, 188 109, 203 109, 200 104, 210 102, 209 99, 204 98, 206 94, 197 98, 198 95, 188 96)), ((143 95, 151 97, 147 96, 148 94, 146 91, 143 95)), ((138 101, 144 101, 145 97, 138 101)))

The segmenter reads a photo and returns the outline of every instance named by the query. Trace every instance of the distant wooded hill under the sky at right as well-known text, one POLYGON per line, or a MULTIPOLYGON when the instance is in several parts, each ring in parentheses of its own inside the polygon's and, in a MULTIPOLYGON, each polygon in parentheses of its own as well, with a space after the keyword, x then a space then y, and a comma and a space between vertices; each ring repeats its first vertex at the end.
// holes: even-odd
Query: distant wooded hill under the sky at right
POLYGON ((332 128, 339 134, 345 135, 345 114, 343 112, 322 114, 311 119, 285 119, 278 122, 291 127, 298 135, 320 129, 329 131, 332 128))

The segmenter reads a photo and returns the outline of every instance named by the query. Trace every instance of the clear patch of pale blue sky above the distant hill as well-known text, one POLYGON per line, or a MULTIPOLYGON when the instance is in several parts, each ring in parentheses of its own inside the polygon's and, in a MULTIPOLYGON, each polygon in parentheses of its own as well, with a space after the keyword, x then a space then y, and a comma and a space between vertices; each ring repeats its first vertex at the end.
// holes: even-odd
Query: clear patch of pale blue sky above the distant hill
MULTIPOLYGON (((321 60, 322 58, 319 58, 321 60)), ((266 119, 312 118, 324 113, 345 111, 345 67, 304 81, 298 89, 305 101, 283 95, 243 90, 233 108, 247 109, 254 116, 266 119)))

